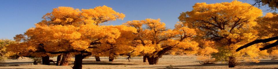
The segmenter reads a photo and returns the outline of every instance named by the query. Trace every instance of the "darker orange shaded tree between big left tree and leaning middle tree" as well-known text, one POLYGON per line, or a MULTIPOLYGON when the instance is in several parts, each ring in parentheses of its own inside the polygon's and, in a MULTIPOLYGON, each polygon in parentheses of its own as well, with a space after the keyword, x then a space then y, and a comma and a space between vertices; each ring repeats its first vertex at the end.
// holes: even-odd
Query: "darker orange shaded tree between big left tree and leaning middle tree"
POLYGON ((136 46, 133 46, 132 41, 136 37, 133 34, 136 33, 136 28, 124 25, 107 27, 117 28, 120 36, 114 42, 103 42, 97 49, 93 49, 95 55, 109 56, 109 61, 112 62, 119 55, 130 55, 130 53, 135 51, 136 46))

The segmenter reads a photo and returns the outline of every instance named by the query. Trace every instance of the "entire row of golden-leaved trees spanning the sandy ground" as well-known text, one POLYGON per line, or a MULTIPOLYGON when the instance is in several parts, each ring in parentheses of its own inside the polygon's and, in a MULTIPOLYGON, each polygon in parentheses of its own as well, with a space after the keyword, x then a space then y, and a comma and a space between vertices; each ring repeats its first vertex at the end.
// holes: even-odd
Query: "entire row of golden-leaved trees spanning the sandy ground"
POLYGON ((73 69, 82 69, 82 60, 88 56, 96 57, 96 61, 100 61, 100 56, 109 57, 109 61, 122 55, 144 56, 144 62, 147 59, 149 64, 158 64, 167 52, 197 54, 205 63, 225 61, 229 67, 235 67, 238 61, 259 62, 272 51, 276 53, 277 48, 265 49, 278 45, 273 41, 278 35, 278 15, 262 16, 261 9, 240 1, 196 3, 192 11, 180 14, 174 29, 169 29, 160 19, 149 18, 107 26, 104 23, 125 17, 107 6, 81 10, 58 7, 45 14, 36 27, 5 43, 5 51, 41 57, 45 65, 50 65, 49 57, 58 56, 56 65, 66 66, 74 56, 73 69), (257 49, 263 45, 267 45, 260 48, 264 51, 257 49))

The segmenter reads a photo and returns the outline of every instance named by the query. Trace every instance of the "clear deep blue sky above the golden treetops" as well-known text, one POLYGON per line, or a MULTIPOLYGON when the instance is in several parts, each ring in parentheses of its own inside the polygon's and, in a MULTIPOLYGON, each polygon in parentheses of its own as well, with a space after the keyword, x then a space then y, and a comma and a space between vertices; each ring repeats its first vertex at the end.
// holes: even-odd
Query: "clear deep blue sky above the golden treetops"
MULTIPOLYGON (((59 6, 89 9, 106 5, 126 15, 108 25, 126 21, 160 18, 167 28, 173 28, 182 12, 191 11, 195 3, 221 3, 232 0, 0 0, 0 39, 13 39, 40 22, 41 17, 59 6)), ((238 0, 253 4, 253 0, 238 0)))

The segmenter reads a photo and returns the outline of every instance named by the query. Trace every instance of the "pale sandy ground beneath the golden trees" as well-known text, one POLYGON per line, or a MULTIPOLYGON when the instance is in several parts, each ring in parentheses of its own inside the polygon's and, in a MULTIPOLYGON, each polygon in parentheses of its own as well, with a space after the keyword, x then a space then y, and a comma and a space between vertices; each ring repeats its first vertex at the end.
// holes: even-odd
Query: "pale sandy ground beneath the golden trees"
MULTIPOLYGON (((73 58, 74 59, 74 58, 73 58)), ((55 57, 50 60, 56 60, 55 57)), ((102 62, 95 62, 94 57, 83 59, 83 69, 228 69, 228 64, 217 62, 216 64, 201 65, 196 60, 196 56, 174 56, 163 55, 159 59, 158 65, 148 65, 143 62, 142 57, 133 57, 131 62, 126 57, 119 57, 114 62, 108 62, 108 57, 100 57, 102 62), (173 68, 167 68, 167 66, 173 68)), ((0 63, 0 69, 71 69, 73 62, 69 66, 32 65, 30 59, 6 60, 0 63)), ((245 63, 231 69, 278 69, 278 60, 263 59, 259 63, 245 63)))

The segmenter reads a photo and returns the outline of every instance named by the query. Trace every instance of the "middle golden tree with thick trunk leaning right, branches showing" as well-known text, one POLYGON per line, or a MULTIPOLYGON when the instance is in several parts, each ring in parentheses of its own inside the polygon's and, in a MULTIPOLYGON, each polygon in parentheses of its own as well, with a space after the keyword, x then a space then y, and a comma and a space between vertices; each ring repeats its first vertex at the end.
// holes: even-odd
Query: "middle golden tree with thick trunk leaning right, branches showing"
POLYGON ((198 44, 191 41, 195 30, 186 24, 178 23, 173 30, 167 29, 160 19, 133 20, 125 25, 137 29, 133 43, 138 44, 136 51, 145 56, 150 65, 158 64, 158 59, 169 50, 196 53, 198 49, 198 44))

